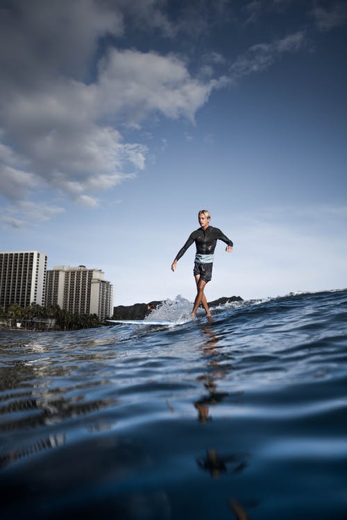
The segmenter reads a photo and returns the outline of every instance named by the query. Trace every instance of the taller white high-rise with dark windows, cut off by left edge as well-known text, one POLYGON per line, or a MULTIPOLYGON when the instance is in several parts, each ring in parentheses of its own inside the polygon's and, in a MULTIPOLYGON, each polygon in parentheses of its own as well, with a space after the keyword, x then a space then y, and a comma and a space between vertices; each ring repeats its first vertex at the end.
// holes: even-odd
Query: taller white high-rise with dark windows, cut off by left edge
POLYGON ((0 252, 0 306, 44 305, 47 257, 39 251, 0 252))

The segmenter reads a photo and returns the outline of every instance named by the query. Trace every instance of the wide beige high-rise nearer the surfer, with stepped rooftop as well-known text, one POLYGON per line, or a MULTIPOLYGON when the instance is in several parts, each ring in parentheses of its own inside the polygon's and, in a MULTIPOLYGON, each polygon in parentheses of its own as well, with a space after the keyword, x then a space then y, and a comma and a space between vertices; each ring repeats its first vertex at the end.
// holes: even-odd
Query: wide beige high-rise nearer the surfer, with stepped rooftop
POLYGON ((96 314, 105 320, 113 313, 113 288, 101 269, 56 266, 47 271, 45 305, 58 304, 71 313, 96 314))

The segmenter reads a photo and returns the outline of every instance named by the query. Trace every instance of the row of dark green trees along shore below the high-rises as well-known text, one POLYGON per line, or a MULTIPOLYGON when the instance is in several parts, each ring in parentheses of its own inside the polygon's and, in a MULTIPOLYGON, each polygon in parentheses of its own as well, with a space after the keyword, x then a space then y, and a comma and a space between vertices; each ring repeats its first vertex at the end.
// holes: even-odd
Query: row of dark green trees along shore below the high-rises
POLYGON ((42 307, 36 303, 26 307, 12 303, 6 310, 0 308, 0 322, 7 327, 17 327, 17 323, 20 323, 22 329, 59 331, 91 329, 101 326, 96 314, 70 313, 60 309, 57 304, 42 307))

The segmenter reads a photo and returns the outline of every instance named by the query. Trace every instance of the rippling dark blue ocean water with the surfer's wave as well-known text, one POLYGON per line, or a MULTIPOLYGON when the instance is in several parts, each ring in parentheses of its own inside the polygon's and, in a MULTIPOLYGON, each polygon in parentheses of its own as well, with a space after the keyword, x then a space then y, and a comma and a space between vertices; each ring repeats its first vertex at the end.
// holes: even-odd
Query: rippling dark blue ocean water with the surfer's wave
POLYGON ((347 291, 212 315, 0 331, 1 519, 347 519, 347 291))

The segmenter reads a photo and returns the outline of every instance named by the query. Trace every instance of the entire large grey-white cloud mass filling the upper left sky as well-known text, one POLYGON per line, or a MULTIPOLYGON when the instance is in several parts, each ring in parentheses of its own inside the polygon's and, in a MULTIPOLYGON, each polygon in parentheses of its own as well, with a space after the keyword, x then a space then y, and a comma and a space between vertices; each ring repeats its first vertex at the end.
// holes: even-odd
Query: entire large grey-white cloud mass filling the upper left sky
MULTIPOLYGON (((160 2, 144 3, 154 12, 160 2)), ((111 46, 87 80, 100 38, 124 32, 121 9, 144 18, 144 3, 12 0, 4 10, 0 29, 12 52, 0 46, 3 196, 30 198, 46 186, 94 207, 91 192, 145 166, 146 146, 124 142, 121 125, 139 128, 150 114, 194 121, 220 82, 194 78, 175 55, 111 46)))

